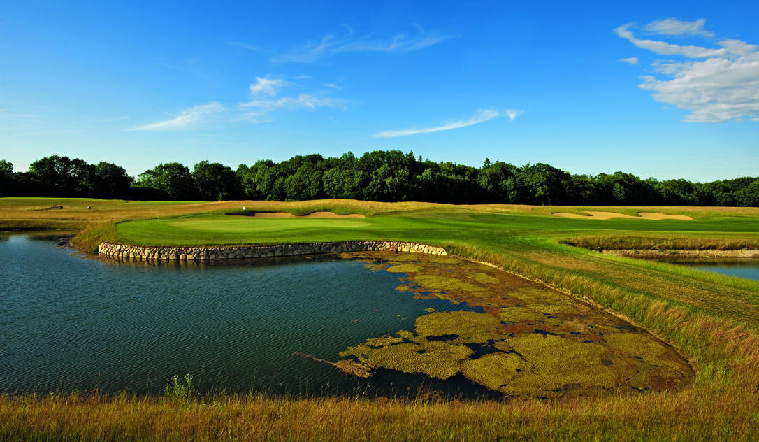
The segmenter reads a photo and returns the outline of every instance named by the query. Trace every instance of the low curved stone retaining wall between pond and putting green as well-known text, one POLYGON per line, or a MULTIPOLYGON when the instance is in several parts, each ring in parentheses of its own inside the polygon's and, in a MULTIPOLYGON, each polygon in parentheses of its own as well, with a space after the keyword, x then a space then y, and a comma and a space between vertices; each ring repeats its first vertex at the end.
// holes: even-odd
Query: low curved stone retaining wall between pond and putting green
POLYGON ((102 242, 98 253, 105 257, 132 260, 226 260, 257 257, 297 256, 343 251, 408 251, 446 255, 446 249, 414 242, 350 241, 310 244, 251 245, 226 247, 149 247, 102 242))

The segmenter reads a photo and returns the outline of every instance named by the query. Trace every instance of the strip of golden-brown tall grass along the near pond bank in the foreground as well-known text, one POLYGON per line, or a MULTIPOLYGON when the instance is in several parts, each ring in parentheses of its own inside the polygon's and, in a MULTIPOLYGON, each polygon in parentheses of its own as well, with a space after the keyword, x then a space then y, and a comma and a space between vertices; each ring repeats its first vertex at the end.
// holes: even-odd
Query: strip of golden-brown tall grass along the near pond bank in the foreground
POLYGON ((220 393, 176 406, 124 394, 0 396, 0 439, 756 440, 747 399, 710 390, 509 403, 220 393))

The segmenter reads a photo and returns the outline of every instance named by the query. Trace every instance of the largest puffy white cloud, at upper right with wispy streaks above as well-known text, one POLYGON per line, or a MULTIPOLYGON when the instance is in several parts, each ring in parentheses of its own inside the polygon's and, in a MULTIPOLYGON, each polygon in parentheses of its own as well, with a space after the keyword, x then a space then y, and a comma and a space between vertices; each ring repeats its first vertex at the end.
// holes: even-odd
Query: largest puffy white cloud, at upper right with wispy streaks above
MULTIPOLYGON (((672 35, 698 31, 698 35, 707 36, 701 21, 691 24, 691 28, 678 28, 677 24, 688 22, 668 20, 666 27, 661 21, 653 22, 659 23, 655 29, 664 28, 670 33, 679 29, 678 34, 672 35)), ((655 73, 670 77, 641 77, 644 80, 641 89, 650 90, 653 99, 687 110, 686 122, 721 123, 742 118, 759 120, 759 46, 737 39, 721 40, 717 43, 720 49, 672 45, 636 39, 630 27, 624 25, 616 28, 615 32, 639 48, 660 55, 691 58, 653 63, 655 73)))

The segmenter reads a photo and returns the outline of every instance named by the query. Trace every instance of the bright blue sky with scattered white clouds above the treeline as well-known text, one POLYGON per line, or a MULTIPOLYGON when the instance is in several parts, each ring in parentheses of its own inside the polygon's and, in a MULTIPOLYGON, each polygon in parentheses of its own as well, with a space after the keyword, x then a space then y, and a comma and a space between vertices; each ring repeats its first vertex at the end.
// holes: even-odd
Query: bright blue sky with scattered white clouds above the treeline
POLYGON ((2 2, 0 159, 759 175, 759 3, 2 2))

